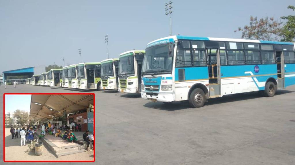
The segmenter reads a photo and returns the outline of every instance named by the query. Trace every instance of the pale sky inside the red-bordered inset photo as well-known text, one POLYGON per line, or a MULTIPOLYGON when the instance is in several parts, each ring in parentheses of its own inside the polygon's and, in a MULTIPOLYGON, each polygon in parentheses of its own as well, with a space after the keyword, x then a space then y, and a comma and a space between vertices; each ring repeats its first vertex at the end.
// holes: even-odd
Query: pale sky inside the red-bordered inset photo
POLYGON ((31 95, 5 95, 5 112, 22 110, 30 112, 31 95))

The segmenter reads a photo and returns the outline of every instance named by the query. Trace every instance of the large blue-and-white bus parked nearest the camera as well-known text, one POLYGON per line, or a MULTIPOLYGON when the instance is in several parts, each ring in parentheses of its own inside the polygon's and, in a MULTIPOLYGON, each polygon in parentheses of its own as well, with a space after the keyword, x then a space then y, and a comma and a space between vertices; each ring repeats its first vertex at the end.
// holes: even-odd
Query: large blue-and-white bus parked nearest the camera
POLYGON ((260 91, 267 97, 295 84, 294 43, 170 36, 148 43, 141 97, 160 102, 260 91))

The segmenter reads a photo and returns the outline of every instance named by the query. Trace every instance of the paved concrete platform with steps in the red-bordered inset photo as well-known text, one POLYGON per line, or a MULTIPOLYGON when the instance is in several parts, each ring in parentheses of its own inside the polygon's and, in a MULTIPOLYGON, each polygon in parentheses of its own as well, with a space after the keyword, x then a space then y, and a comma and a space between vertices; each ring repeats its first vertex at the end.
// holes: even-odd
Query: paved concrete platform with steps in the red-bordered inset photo
MULTIPOLYGON (((35 133, 36 137, 39 137, 41 130, 35 133)), ((74 133, 75 134, 75 133, 74 133)), ((76 135, 76 134, 75 134, 76 135)), ((57 157, 76 154, 80 152, 86 152, 84 142, 74 141, 73 143, 63 140, 61 137, 55 137, 53 135, 45 134, 45 137, 41 139, 42 143, 46 145, 57 157)))

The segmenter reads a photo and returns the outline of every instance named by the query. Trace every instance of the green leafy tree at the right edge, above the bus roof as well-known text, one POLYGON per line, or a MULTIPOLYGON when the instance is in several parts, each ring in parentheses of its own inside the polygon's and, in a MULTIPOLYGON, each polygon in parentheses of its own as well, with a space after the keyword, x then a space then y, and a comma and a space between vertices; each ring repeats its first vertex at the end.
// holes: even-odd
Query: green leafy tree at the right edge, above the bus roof
MULTIPOLYGON (((293 11, 295 11, 295 6, 289 5, 288 9, 292 9, 293 11)), ((281 18, 287 20, 287 22, 281 29, 281 41, 293 42, 295 40, 295 16, 289 15, 283 16, 281 18)))

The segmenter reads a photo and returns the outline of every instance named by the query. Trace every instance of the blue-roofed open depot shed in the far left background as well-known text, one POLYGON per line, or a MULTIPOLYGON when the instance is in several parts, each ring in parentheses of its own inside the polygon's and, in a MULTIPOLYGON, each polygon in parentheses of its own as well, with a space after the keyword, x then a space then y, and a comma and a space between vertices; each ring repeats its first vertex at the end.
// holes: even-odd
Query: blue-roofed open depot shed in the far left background
POLYGON ((15 69, 15 70, 8 70, 4 71, 3 73, 3 81, 4 83, 7 80, 7 83, 9 83, 9 80, 25 80, 26 78, 31 78, 34 75, 34 68, 35 67, 29 67, 29 68, 21 68, 21 69, 15 69))

